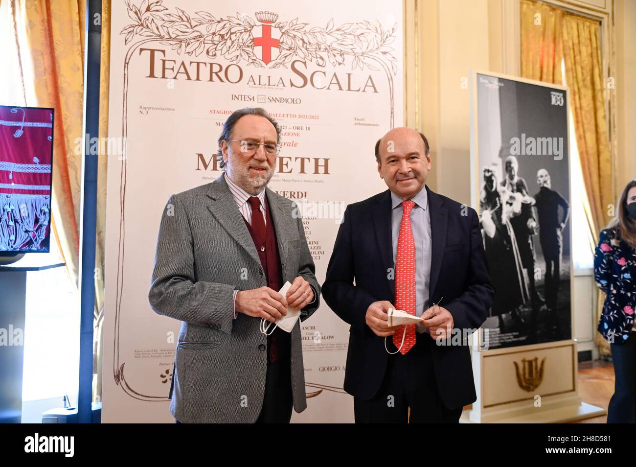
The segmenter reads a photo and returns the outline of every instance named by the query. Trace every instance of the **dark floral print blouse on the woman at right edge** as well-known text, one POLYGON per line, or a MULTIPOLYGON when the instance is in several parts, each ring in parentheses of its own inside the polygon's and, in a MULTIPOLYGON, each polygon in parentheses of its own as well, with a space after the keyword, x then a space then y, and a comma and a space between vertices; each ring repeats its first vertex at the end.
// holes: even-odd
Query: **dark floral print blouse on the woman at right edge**
POLYGON ((594 279, 607 294, 598 332, 611 344, 630 337, 636 308, 636 250, 618 239, 614 229, 600 233, 594 255, 594 279))

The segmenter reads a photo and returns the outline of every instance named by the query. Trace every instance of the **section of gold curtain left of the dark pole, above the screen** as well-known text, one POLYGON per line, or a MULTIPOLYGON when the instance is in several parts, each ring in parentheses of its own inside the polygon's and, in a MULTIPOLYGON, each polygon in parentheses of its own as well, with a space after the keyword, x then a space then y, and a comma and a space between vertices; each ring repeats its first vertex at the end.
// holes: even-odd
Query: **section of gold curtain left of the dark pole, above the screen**
POLYGON ((81 183, 78 138, 81 141, 83 110, 83 20, 79 18, 84 10, 78 1, 57 2, 55 8, 46 0, 10 1, 15 8, 25 87, 32 91, 26 93, 27 106, 55 108, 52 218, 66 269, 77 286, 81 183))

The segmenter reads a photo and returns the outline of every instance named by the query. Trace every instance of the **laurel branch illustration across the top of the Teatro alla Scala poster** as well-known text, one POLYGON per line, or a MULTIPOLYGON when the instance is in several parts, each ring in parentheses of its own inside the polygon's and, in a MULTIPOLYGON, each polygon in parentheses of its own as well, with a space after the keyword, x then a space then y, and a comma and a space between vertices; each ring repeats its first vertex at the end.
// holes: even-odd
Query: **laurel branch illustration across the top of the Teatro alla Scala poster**
POLYGON ((275 22, 272 27, 280 30, 280 52, 266 65, 254 54, 252 30, 257 24, 248 15, 237 12, 234 17, 217 19, 206 11, 197 11, 190 16, 178 7, 176 13, 162 13, 168 10, 162 3, 163 0, 144 0, 136 6, 126 0, 128 17, 134 21, 120 32, 126 35, 126 44, 135 35, 163 39, 162 44, 171 46, 179 55, 198 57, 205 52, 210 59, 223 57, 231 63, 246 62, 259 68, 287 67, 293 57, 320 67, 328 61, 335 67, 345 64, 345 57, 350 56, 352 69, 367 67, 378 71, 379 65, 397 74, 397 60, 390 46, 396 38, 397 24, 384 29, 378 20, 375 24, 364 20, 334 27, 332 18, 325 27, 307 29, 308 24, 299 23, 298 18, 275 22))

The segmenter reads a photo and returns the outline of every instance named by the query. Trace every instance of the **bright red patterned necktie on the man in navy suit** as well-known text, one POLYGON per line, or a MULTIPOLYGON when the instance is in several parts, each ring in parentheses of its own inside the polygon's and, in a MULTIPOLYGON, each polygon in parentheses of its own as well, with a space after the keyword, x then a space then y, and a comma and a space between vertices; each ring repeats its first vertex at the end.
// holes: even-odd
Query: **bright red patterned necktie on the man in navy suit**
MULTIPOLYGON (((415 242, 411 230, 411 209, 415 202, 402 202, 402 221, 397 236, 396 254, 396 307, 408 314, 415 315, 415 242)), ((404 334, 404 324, 399 326, 393 335, 393 344, 399 347, 404 334)), ((406 354, 415 345, 415 324, 406 326, 404 345, 401 354, 406 354)))

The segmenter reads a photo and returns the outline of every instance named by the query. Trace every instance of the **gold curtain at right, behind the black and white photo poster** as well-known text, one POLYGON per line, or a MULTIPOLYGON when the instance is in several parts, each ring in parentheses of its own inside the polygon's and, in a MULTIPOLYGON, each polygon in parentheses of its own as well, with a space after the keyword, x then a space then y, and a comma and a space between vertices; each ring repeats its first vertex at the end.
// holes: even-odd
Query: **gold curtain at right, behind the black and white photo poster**
MULTIPOLYGON (((587 193, 583 208, 591 237, 597 243, 598 233, 609 221, 608 207, 614 202, 598 40, 600 24, 531 0, 521 0, 521 15, 522 76, 562 84, 561 60, 565 64, 565 81, 570 89, 570 108, 587 193)), ((605 295, 599 290, 597 322, 604 300, 605 295)), ((600 352, 609 354, 609 345, 599 333, 595 340, 600 352)))

